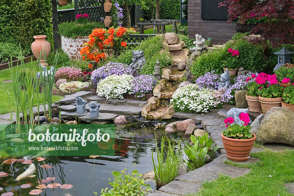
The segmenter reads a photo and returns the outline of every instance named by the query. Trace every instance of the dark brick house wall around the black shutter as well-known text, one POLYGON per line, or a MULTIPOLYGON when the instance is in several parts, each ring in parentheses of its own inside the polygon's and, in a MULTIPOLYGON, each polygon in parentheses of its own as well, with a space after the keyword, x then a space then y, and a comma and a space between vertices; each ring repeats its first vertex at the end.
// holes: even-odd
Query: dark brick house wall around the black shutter
POLYGON ((236 22, 227 23, 220 20, 201 19, 201 1, 188 0, 188 35, 195 39, 195 34, 203 38, 213 38, 213 44, 223 44, 232 38, 237 31, 236 22))

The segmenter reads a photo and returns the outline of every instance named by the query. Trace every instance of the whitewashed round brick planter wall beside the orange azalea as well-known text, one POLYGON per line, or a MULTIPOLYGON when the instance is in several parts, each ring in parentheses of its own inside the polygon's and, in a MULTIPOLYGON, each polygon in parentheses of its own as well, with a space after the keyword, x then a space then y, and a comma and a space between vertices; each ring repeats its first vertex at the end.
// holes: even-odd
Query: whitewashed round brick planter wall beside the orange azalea
POLYGON ((78 36, 76 39, 61 36, 61 48, 69 55, 70 59, 81 59, 80 50, 87 41, 88 36, 78 36))

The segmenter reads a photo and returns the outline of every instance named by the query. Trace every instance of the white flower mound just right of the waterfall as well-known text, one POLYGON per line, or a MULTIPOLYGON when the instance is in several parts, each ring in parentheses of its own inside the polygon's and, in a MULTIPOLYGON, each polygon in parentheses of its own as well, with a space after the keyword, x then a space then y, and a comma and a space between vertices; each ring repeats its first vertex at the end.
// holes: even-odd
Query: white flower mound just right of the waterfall
POLYGON ((196 113, 208 112, 208 109, 216 107, 218 102, 213 97, 213 90, 199 90, 197 84, 189 84, 176 90, 171 104, 176 111, 196 113))

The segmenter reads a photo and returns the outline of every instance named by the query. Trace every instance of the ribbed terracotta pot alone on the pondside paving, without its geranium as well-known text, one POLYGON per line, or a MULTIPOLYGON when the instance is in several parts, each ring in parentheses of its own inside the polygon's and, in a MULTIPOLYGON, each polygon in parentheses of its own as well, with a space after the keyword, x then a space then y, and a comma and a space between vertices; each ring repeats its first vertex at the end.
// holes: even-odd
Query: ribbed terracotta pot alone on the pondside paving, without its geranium
POLYGON ((250 139, 233 139, 225 137, 221 134, 223 146, 225 148, 225 156, 229 160, 235 162, 244 162, 250 158, 249 153, 253 148, 256 136, 253 134, 253 138, 250 139))

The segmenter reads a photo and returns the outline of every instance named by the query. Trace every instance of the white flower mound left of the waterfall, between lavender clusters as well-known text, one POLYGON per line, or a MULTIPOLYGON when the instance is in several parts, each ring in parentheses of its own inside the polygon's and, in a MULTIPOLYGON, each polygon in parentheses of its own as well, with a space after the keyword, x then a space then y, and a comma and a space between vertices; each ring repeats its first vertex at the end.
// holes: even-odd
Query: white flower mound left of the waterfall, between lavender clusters
POLYGON ((132 75, 110 75, 97 84, 97 95, 106 99, 123 99, 123 94, 132 89, 132 75))

